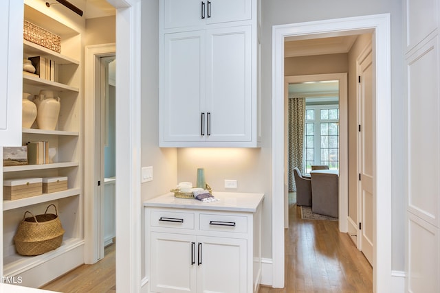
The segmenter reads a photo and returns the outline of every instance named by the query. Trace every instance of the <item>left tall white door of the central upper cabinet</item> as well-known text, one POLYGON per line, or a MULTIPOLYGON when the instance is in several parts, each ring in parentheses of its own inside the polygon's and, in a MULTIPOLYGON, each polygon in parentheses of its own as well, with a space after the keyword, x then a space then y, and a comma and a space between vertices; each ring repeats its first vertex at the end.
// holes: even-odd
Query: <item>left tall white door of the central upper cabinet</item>
POLYGON ((205 32, 164 36, 164 141, 204 141, 205 32))

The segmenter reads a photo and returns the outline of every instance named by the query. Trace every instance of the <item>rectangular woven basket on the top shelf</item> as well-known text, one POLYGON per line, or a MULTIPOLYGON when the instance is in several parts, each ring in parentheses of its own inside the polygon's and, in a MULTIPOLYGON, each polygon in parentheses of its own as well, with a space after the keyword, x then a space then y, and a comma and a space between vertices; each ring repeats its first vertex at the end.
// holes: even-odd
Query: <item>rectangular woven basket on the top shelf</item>
POLYGON ((61 52, 61 37, 49 32, 43 27, 34 25, 29 21, 25 21, 23 24, 23 38, 29 40, 32 43, 43 46, 57 53, 61 52))

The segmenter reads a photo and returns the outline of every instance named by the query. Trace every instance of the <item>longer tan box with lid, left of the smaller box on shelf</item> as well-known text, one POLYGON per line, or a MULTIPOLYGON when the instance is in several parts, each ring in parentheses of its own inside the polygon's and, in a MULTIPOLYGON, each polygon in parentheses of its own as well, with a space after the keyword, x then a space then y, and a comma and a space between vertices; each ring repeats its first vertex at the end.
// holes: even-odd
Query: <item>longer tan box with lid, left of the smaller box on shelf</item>
POLYGON ((19 200, 43 194, 43 178, 23 178, 3 181, 3 200, 19 200))

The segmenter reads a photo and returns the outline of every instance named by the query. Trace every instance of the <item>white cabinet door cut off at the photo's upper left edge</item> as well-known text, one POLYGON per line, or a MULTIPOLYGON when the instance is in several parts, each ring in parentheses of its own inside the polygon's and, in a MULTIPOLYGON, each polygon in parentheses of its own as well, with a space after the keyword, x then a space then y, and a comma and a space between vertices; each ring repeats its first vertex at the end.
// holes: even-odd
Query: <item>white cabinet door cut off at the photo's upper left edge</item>
POLYGON ((5 45, 0 47, 0 146, 19 146, 23 78, 23 2, 1 1, 0 26, 1 39, 6 40, 5 45), (12 21, 10 16, 18 16, 18 19, 12 21))

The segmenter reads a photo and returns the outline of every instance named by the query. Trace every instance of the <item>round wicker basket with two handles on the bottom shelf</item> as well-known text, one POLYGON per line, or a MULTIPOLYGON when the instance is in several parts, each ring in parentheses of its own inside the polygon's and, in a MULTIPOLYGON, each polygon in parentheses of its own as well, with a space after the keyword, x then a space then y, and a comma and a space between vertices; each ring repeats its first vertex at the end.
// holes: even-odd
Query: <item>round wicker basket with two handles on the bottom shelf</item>
POLYGON ((64 229, 58 218, 58 211, 55 204, 50 204, 42 215, 25 211, 14 236, 15 248, 20 255, 42 255, 60 247, 63 235, 64 229), (54 206, 55 214, 47 213, 51 206, 54 206), (26 213, 30 213, 32 217, 25 218, 26 213))

